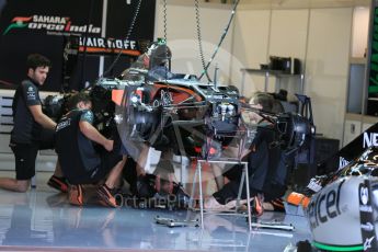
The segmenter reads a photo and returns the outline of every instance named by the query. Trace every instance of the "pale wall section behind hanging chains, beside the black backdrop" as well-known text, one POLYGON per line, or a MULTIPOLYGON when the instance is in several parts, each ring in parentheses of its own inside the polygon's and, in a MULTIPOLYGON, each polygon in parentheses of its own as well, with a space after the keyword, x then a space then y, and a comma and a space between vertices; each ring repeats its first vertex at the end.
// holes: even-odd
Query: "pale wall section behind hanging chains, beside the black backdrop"
MULTIPOLYGON (((201 3, 201 31, 203 48, 206 62, 213 55, 224 28, 231 14, 229 4, 201 3), (210 8, 211 7, 211 8, 210 8)), ((202 62, 198 50, 196 34, 196 19, 194 2, 169 1, 167 5, 167 37, 168 45, 172 50, 172 71, 182 73, 202 72, 202 62)), ((213 79, 215 66, 219 67, 220 81, 229 81, 232 26, 225 38, 217 57, 209 68, 209 76, 213 79)), ((163 5, 157 1, 156 37, 164 36, 163 5)), ((204 81, 206 78, 203 79, 204 81)))

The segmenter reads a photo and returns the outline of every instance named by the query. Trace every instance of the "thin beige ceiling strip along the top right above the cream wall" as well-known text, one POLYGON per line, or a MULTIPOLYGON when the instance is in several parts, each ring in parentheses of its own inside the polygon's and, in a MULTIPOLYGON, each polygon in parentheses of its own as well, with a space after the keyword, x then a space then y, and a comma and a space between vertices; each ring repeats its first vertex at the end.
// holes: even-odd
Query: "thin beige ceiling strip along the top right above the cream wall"
MULTIPOLYGON (((220 3, 224 0, 208 0, 220 3)), ((234 0, 227 0, 233 3, 234 0)), ((300 8, 341 8, 341 7, 369 7, 370 0, 240 0, 241 8, 248 9, 300 9, 300 8)))

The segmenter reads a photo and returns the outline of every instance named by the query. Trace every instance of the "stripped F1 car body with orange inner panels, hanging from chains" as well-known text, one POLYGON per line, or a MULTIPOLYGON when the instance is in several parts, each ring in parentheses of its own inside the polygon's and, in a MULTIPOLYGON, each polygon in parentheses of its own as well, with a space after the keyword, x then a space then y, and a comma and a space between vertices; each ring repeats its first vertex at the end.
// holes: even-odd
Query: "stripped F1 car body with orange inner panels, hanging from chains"
POLYGON ((118 129, 158 150, 172 148, 175 153, 193 156, 207 138, 214 145, 227 145, 236 137, 238 98, 233 88, 215 90, 184 79, 128 87, 116 110, 125 118, 118 129))

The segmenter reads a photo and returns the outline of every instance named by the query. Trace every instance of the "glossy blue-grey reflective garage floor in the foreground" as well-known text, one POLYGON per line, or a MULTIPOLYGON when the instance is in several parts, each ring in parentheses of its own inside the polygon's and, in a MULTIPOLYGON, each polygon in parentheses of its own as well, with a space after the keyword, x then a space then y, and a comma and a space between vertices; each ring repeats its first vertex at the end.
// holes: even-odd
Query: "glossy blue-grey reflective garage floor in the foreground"
MULTIPOLYGON (((2 175, 2 173, 0 173, 2 175)), ((48 174, 49 175, 49 174, 48 174)), ((46 175, 45 177, 48 177, 46 175)), ((199 218, 193 211, 76 207, 66 195, 45 185, 11 193, 0 190, 0 250, 8 251, 284 251, 289 244, 310 240, 303 217, 265 213, 262 219, 295 226, 294 231, 248 230, 244 217, 206 214, 204 229, 169 228, 154 217, 199 218)))

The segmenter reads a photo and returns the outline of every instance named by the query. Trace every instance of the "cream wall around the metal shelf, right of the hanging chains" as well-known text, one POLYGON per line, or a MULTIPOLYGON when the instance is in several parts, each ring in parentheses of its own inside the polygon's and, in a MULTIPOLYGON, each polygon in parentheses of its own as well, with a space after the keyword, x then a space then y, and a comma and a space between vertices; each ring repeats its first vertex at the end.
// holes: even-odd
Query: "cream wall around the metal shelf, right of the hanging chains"
MULTIPOLYGON (((299 58, 317 133, 342 140, 353 8, 245 9, 237 18, 234 58, 247 68, 260 68, 260 64, 268 62, 270 55, 299 58)), ((239 68, 236 64, 232 67, 239 68)), ((240 83, 240 75, 231 78, 240 83)), ((263 77, 248 76, 244 94, 262 91, 263 81, 263 77)), ((274 78, 270 79, 270 92, 274 92, 274 78)), ((298 92, 298 82, 291 80, 286 88, 293 95, 298 92)))

